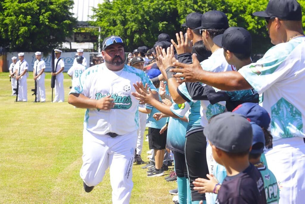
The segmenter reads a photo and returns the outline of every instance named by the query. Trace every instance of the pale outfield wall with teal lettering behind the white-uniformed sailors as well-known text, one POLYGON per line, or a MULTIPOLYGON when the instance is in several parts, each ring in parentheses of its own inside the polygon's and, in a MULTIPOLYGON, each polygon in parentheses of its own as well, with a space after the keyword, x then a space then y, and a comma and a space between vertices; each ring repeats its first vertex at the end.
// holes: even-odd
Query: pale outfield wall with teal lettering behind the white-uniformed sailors
MULTIPOLYGON (((61 54, 61 58, 63 58, 65 62, 65 69, 64 72, 67 72, 70 67, 73 65, 74 56, 76 52, 63 52, 61 54)), ((7 63, 8 67, 12 63, 11 58, 15 56, 18 59, 18 52, 8 52, 7 53, 7 63)), ((89 52, 84 52, 83 56, 87 59, 87 67, 90 66, 90 54, 89 52)), ((45 72, 51 72, 51 53, 49 53, 47 56, 43 56, 43 53, 41 54, 42 59, 45 61, 45 72)), ((24 59, 29 64, 29 71, 33 71, 34 62, 36 61, 35 53, 34 52, 25 52, 24 53, 24 59)))

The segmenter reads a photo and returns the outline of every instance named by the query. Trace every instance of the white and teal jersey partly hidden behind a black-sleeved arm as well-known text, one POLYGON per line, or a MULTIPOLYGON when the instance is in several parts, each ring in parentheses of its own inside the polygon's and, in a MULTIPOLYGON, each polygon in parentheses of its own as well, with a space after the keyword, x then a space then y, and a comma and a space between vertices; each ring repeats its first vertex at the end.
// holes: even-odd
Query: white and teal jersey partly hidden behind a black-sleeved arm
MULTIPOLYGON (((201 67, 205 71, 209 72, 225 72, 225 71, 235 71, 233 65, 229 65, 226 59, 224 58, 223 48, 216 50, 212 55, 200 63, 201 67)), ((205 86, 203 83, 202 86, 205 86)), ((185 95, 190 101, 196 102, 189 95, 186 84, 182 83, 179 85, 178 90, 185 95)), ((218 102, 212 105, 209 101, 200 101, 200 115, 201 115, 201 126, 205 127, 208 124, 208 120, 213 115, 224 112, 225 102, 218 102)))

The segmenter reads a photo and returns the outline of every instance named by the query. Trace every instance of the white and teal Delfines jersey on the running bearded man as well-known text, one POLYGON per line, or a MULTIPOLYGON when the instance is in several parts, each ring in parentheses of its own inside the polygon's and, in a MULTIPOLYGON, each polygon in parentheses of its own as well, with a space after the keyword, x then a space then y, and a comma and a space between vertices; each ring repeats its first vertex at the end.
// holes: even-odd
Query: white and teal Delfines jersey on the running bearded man
POLYGON ((69 94, 82 94, 95 100, 111 95, 115 106, 110 110, 87 109, 84 128, 99 135, 108 132, 124 135, 137 130, 139 101, 131 95, 135 92, 132 84, 137 81, 147 83, 152 91, 156 91, 143 71, 128 65, 117 72, 110 71, 105 63, 86 69, 69 94))

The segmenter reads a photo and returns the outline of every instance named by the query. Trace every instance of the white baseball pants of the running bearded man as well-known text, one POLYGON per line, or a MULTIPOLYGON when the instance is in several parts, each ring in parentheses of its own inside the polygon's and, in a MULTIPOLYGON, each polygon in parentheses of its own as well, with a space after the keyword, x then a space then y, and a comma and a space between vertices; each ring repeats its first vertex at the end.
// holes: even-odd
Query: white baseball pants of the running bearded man
POLYGON ((111 138, 84 129, 83 165, 80 176, 87 186, 96 186, 110 167, 112 202, 128 204, 133 188, 132 166, 137 131, 111 138))

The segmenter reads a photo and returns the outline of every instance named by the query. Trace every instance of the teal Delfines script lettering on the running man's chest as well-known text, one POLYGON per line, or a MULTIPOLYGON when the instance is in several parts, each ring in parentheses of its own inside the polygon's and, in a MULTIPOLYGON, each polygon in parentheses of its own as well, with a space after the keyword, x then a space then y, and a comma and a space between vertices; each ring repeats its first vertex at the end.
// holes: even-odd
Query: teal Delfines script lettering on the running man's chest
MULTIPOLYGON (((101 93, 95 94, 95 100, 99 100, 110 94, 107 93, 106 95, 102 95, 101 93)), ((115 103, 112 109, 129 109, 132 105, 131 97, 130 96, 120 96, 118 94, 111 94, 110 98, 113 98, 113 102, 115 103)), ((100 109, 97 109, 100 111, 100 109)))

